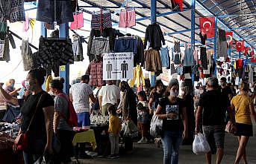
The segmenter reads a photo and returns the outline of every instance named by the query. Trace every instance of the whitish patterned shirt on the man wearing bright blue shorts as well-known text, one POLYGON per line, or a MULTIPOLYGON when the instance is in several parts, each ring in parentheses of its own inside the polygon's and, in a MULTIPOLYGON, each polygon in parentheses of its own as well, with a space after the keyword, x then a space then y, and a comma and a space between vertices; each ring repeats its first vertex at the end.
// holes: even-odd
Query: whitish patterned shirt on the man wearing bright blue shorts
POLYGON ((89 99, 93 94, 90 85, 85 83, 77 83, 70 88, 70 94, 72 94, 73 105, 76 113, 89 112, 89 99))

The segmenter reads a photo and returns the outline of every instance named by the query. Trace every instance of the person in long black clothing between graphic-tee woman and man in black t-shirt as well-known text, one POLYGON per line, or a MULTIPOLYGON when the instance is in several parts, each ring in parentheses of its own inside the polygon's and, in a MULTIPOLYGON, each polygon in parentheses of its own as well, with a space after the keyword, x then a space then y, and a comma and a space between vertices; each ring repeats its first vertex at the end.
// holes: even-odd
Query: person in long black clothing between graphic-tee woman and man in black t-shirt
POLYGON ((184 99, 186 110, 187 110, 187 122, 188 122, 188 137, 183 140, 183 145, 191 145, 193 143, 194 129, 196 128, 195 116, 194 116, 194 99, 192 90, 188 86, 181 88, 182 99, 184 99))

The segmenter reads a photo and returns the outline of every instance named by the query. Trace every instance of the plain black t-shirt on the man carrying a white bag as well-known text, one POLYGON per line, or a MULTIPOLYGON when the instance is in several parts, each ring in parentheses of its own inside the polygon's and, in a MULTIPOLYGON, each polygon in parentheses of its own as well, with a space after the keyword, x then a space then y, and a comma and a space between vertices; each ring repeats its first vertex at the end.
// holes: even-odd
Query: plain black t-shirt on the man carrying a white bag
POLYGON ((225 112, 230 102, 219 90, 202 94, 199 106, 203 107, 203 125, 225 125, 225 112))

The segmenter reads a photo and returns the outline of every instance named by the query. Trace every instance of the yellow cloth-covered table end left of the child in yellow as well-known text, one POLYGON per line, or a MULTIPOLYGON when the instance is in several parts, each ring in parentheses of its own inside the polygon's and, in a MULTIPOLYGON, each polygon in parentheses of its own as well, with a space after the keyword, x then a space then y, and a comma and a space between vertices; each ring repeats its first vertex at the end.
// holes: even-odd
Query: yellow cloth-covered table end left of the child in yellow
POLYGON ((93 151, 95 151, 97 148, 96 138, 93 129, 76 133, 72 143, 74 146, 78 143, 90 143, 93 147, 93 151))

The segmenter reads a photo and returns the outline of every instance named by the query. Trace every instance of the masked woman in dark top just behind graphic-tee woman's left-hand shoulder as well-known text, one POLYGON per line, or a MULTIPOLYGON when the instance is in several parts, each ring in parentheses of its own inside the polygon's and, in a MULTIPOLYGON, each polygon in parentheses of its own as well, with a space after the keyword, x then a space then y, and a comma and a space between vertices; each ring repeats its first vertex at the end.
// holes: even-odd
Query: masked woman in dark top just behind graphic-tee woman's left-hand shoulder
POLYGON ((160 99, 163 97, 164 91, 165 88, 163 82, 160 79, 158 79, 155 82, 154 89, 152 90, 149 96, 149 114, 153 114, 154 111, 156 111, 157 105, 160 99))

